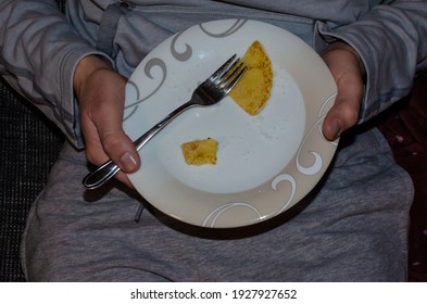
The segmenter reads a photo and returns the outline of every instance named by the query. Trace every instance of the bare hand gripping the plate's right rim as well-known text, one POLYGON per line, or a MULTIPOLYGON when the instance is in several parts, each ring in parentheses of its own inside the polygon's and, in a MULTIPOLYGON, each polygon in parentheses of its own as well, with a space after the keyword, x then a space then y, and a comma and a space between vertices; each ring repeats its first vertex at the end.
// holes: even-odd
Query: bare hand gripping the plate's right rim
POLYGON ((335 104, 323 124, 324 136, 335 140, 357 123, 364 91, 365 68, 354 49, 342 41, 331 43, 322 58, 338 86, 335 104))

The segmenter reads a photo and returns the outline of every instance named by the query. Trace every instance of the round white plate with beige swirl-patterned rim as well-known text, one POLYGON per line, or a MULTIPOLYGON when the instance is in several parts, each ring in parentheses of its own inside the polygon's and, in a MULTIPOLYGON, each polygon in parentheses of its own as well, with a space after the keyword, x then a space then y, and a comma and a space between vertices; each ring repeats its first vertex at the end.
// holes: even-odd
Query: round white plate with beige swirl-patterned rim
POLYGON ((181 114, 140 150, 142 166, 129 179, 169 216, 215 228, 265 220, 306 195, 334 156, 337 143, 321 130, 337 92, 329 69, 294 35, 248 20, 197 25, 150 52, 126 86, 127 134, 135 139, 147 131, 254 40, 274 73, 260 114, 250 116, 227 97, 181 114), (187 165, 181 143, 208 137, 218 141, 216 165, 187 165))

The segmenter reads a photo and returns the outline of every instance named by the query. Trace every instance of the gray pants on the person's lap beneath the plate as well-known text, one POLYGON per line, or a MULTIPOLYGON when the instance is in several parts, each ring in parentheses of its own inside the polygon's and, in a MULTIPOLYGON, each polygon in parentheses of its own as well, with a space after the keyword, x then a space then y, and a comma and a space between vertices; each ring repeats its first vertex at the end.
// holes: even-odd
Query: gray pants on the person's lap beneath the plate
POLYGON ((411 179, 377 130, 347 141, 293 208, 221 230, 178 223, 121 187, 85 192, 85 155, 65 145, 29 213, 25 275, 30 281, 403 281, 411 179), (147 210, 135 221, 140 204, 147 210))

